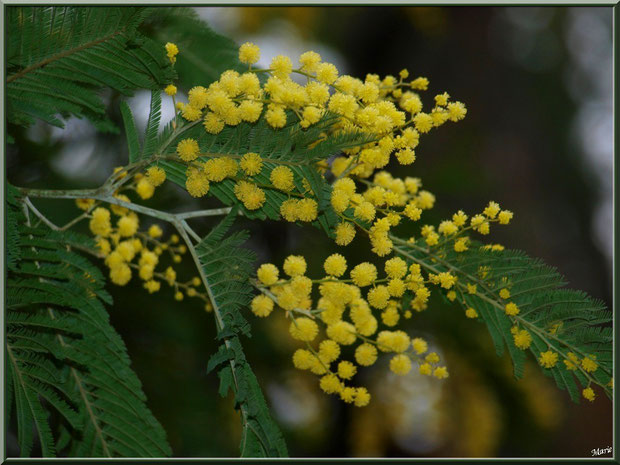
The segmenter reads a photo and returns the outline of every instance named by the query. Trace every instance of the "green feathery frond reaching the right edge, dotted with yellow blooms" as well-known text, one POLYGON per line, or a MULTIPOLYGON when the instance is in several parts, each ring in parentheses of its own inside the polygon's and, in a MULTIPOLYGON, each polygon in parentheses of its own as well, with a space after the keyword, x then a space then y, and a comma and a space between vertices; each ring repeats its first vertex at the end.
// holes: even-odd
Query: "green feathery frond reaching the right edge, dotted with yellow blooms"
POLYGON ((607 386, 612 376, 611 312, 603 302, 584 292, 563 288, 565 280, 555 268, 521 251, 492 251, 477 243, 457 253, 450 241, 434 252, 423 241, 402 245, 399 242, 395 251, 410 263, 419 263, 427 272, 447 271, 458 278, 454 288, 456 301, 464 308, 476 310, 498 355, 508 349, 517 378, 523 376, 526 357, 525 351, 515 345, 513 327, 530 334, 529 351, 537 360, 542 352, 558 354, 555 366, 541 370, 552 376, 558 387, 566 389, 574 401, 580 399, 578 384, 587 387, 595 382, 611 395, 607 386), (468 291, 468 284, 476 286, 475 293, 468 291), (509 298, 500 297, 502 289, 509 291, 509 298), (509 302, 519 308, 516 316, 505 313, 509 302), (564 363, 570 361, 569 353, 579 359, 594 356, 598 368, 588 373, 581 366, 564 363))

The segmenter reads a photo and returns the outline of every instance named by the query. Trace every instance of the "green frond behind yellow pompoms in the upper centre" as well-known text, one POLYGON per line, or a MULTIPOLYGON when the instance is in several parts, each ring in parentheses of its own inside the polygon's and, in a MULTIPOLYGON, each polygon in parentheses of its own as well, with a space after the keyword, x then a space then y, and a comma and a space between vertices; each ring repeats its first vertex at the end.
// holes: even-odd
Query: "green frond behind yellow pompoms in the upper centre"
MULTIPOLYGON (((274 130, 261 118, 257 123, 241 123, 238 126, 225 127, 219 134, 207 133, 198 123, 186 123, 178 129, 169 127, 160 136, 160 147, 164 147, 162 155, 175 153, 178 142, 185 138, 195 139, 202 157, 206 161, 208 156, 243 156, 248 152, 258 153, 263 159, 262 171, 251 178, 251 181, 263 188, 266 194, 265 204, 258 210, 248 210, 235 197, 235 179, 226 179, 212 183, 209 195, 213 195, 226 205, 238 205, 243 215, 252 219, 280 219, 280 206, 290 198, 290 195, 272 187, 269 175, 280 165, 287 166, 294 173, 296 190, 293 194, 314 198, 319 205, 319 216, 313 222, 329 236, 338 223, 338 216, 329 203, 330 186, 325 177, 319 173, 317 163, 340 153, 352 145, 368 142, 368 136, 361 133, 345 133, 322 142, 321 134, 327 131, 335 122, 333 115, 327 114, 316 125, 303 129, 298 123, 289 118, 289 123, 282 129, 274 130), (304 186, 306 181, 310 187, 304 186)), ((160 162, 168 178, 185 186, 186 168, 174 161, 160 162)))

